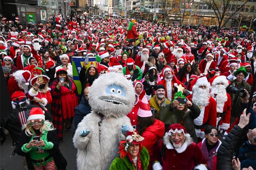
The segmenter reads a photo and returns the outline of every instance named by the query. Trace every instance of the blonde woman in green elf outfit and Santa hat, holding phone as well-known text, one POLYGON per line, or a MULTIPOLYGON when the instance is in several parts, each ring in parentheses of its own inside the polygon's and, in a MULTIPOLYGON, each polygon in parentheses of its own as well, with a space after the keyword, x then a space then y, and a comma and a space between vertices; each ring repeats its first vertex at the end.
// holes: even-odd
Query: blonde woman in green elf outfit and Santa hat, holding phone
POLYGON ((59 151, 59 141, 53 125, 45 120, 41 108, 32 108, 26 129, 22 131, 16 153, 26 157, 28 169, 66 169, 67 161, 59 151))

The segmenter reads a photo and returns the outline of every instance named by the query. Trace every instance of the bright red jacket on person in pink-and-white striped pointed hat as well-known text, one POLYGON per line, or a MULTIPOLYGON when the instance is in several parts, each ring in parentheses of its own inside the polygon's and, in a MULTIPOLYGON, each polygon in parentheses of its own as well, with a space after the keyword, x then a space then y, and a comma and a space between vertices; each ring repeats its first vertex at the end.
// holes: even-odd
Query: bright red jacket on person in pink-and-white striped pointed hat
POLYGON ((142 133, 142 137, 144 138, 142 145, 146 147, 149 154, 149 166, 148 170, 152 169, 152 156, 154 154, 154 149, 159 140, 164 136, 164 122, 154 119, 154 123, 151 126, 148 126, 146 130, 142 133))

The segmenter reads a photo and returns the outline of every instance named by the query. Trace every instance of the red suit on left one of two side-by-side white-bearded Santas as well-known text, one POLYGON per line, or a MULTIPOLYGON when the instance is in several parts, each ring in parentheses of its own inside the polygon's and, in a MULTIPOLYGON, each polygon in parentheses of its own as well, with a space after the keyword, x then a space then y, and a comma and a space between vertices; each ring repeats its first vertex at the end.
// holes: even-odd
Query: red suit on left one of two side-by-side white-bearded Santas
MULTIPOLYGON (((187 96, 187 99, 192 101, 192 95, 187 96)), ((198 138, 203 139, 204 136, 204 126, 202 125, 213 125, 216 127, 217 121, 217 105, 216 101, 209 96, 209 104, 207 106, 199 106, 201 113, 199 117, 194 119, 195 133, 198 138)))

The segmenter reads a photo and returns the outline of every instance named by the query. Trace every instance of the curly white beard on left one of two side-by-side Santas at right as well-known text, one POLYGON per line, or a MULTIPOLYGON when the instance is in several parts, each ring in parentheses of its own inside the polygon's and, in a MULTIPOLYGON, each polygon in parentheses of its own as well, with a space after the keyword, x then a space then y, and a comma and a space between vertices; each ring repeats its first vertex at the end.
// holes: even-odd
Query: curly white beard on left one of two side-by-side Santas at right
POLYGON ((194 104, 200 106, 206 106, 209 104, 209 91, 210 88, 201 89, 199 87, 193 88, 192 101, 194 104))

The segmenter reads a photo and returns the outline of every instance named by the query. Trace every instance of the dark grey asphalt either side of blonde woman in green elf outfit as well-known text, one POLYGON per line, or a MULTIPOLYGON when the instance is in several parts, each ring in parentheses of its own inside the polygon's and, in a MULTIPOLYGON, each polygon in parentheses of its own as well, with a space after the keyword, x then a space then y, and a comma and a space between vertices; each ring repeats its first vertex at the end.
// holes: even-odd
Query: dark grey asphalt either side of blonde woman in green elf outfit
MULTIPOLYGON (((14 147, 10 135, 0 146, 0 170, 23 170, 23 159, 21 156, 12 155, 14 147)), ((59 144, 59 149, 67 160, 67 170, 76 170, 76 149, 74 148, 71 133, 64 131, 64 142, 59 144)))

